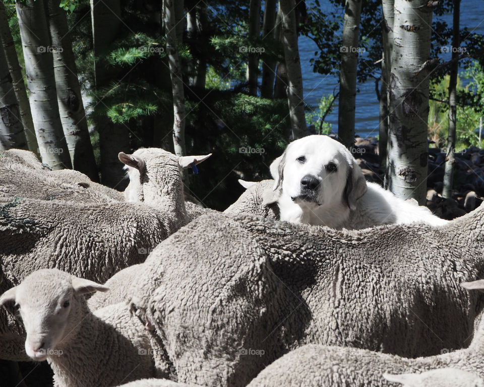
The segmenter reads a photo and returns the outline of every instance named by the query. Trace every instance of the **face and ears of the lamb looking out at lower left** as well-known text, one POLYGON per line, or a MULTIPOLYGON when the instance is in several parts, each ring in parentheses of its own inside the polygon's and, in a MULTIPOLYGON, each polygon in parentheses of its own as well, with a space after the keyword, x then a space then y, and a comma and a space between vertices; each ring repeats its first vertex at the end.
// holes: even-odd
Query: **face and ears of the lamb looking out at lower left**
POLYGON ((86 313, 82 294, 95 290, 107 288, 56 269, 44 269, 5 292, 0 305, 15 303, 27 333, 25 352, 33 360, 43 361, 62 356, 62 347, 76 336, 86 313), (96 286, 99 288, 94 289, 96 286))

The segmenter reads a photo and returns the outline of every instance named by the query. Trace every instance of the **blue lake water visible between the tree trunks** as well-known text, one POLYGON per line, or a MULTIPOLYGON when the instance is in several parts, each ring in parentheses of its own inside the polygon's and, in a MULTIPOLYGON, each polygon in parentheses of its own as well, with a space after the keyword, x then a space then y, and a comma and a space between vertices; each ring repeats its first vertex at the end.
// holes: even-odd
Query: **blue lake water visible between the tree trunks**
MULTIPOLYGON (((449 0, 444 0, 449 1, 449 0)), ((312 7, 312 2, 307 2, 312 7)), ((335 8, 329 1, 322 1, 321 7, 325 13, 335 12, 343 15, 343 9, 335 8)), ((435 16, 433 20, 444 20, 452 26, 452 15, 435 16)), ((376 23, 380 22, 381 15, 376 16, 376 23)), ((484 0, 462 0, 460 5, 460 26, 467 27, 471 33, 484 34, 484 0)), ((465 41, 460 45, 465 47, 465 41)), ((304 101, 306 104, 318 106, 322 96, 333 93, 338 85, 338 79, 313 73, 310 59, 315 51, 319 51, 316 44, 305 36, 299 37, 299 55, 301 57, 302 81, 304 84, 304 101)), ((450 54, 443 56, 444 60, 450 58, 450 54), (448 57, 446 57, 448 56, 448 57)), ((378 75, 376 75, 378 76, 378 75)), ((379 102, 375 93, 375 80, 369 79, 363 84, 358 84, 359 92, 356 94, 355 132, 361 137, 377 136, 379 123, 379 102)), ((336 89, 337 92, 338 89, 336 89)), ((332 131, 338 130, 338 100, 334 103, 333 112, 328 114, 326 121, 332 124, 332 131)))

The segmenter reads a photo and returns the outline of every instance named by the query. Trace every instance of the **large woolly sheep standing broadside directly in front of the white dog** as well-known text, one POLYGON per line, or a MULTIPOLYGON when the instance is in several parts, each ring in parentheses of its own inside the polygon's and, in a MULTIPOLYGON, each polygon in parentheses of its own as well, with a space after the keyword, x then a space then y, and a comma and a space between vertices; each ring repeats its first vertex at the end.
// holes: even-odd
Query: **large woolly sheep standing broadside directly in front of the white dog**
POLYGON ((181 382, 245 385, 305 344, 434 355, 467 345, 482 310, 459 284, 484 270, 483 215, 358 231, 204 215, 127 293, 181 382))

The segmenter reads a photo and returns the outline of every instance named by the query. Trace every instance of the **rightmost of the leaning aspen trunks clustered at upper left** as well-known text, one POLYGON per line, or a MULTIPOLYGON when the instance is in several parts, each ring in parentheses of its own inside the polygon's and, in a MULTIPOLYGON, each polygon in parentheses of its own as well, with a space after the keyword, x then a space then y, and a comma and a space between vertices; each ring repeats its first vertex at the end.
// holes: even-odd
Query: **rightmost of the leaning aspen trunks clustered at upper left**
POLYGON ((55 88, 62 127, 73 168, 99 181, 94 152, 77 78, 76 62, 72 51, 71 34, 66 11, 59 0, 47 0, 47 17, 52 42, 55 88))

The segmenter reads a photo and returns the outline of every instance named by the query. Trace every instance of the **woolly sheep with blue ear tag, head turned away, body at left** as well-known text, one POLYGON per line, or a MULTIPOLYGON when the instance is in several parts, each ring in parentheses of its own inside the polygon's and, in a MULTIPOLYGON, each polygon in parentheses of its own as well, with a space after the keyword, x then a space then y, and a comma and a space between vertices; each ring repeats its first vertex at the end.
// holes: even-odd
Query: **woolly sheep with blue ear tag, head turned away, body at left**
MULTIPOLYGON (((187 223, 180 168, 206 156, 178 159, 163 150, 143 149, 121 157, 132 164, 130 168, 140 168, 131 171, 137 178, 130 182, 127 195, 143 203, 0 197, 0 279, 5 280, 4 286, 18 285, 33 271, 47 268, 105 282, 119 270, 143 262, 161 240, 187 223)), ((0 343, 5 335, 10 338, 11 331, 22 333, 0 311, 0 343)), ((7 360, 18 356, 0 351, 0 358, 7 360)))

